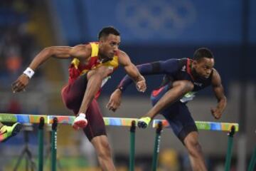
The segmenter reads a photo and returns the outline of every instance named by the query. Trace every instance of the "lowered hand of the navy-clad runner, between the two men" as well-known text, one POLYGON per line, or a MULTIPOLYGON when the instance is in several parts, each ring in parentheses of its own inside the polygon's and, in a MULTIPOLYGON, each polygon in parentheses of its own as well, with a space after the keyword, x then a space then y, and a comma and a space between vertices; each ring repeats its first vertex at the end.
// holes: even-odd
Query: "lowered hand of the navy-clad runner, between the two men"
POLYGON ((121 99, 122 99, 122 91, 117 88, 117 90, 114 90, 114 92, 110 95, 110 100, 107 103, 107 108, 109 110, 112 110, 115 112, 117 108, 121 105, 121 99))

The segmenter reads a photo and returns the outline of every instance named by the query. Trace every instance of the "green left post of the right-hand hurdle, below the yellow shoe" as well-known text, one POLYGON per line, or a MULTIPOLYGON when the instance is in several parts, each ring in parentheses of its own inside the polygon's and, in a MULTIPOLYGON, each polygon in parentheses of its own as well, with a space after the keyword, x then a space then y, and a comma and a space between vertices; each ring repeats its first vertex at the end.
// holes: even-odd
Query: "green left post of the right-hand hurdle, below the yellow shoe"
POLYGON ((156 128, 156 138, 154 143, 154 155, 153 155, 153 163, 152 163, 152 170, 156 171, 157 169, 157 160, 160 150, 160 140, 161 140, 161 130, 163 129, 162 122, 158 123, 158 127, 156 128))

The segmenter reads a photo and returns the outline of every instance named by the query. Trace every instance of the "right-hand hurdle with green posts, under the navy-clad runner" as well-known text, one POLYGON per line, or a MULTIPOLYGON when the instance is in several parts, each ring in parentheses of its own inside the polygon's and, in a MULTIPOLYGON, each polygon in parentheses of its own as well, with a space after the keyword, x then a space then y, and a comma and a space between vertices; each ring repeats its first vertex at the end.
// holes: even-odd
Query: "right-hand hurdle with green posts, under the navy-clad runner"
MULTIPOLYGON (((167 120, 153 120, 153 128, 159 129, 159 127, 163 128, 171 128, 167 120)), ((214 131, 229 131, 228 133, 228 150, 227 154, 225 157, 225 171, 230 170, 230 162, 231 162, 231 154, 232 154, 232 148, 233 148, 233 135, 235 132, 238 132, 239 130, 239 125, 238 123, 217 123, 217 122, 205 122, 205 121, 196 121, 196 127, 198 130, 214 130, 214 131)), ((156 138, 158 138, 156 136, 156 138)), ((160 143, 160 137, 158 140, 155 140, 155 143, 160 143)), ((156 146, 156 145, 155 145, 156 146)), ((159 146, 159 144, 158 144, 159 146)), ((157 165, 157 158, 159 152, 157 152, 156 149, 154 148, 154 155, 153 156, 153 171, 156 171, 156 165, 157 165)))

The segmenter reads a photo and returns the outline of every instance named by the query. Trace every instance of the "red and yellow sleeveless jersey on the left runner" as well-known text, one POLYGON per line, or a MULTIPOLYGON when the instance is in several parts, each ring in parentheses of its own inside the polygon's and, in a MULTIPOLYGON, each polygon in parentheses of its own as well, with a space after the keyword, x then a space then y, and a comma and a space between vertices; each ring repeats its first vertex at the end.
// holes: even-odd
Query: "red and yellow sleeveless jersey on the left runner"
MULTIPOLYGON (((98 56, 99 53, 99 43, 98 42, 91 42, 90 45, 92 46, 92 53, 90 56, 90 60, 87 61, 87 63, 81 63, 78 58, 73 58, 73 61, 70 63, 69 71, 69 79, 68 83, 73 83, 79 76, 82 74, 87 73, 88 71, 91 71, 95 68, 98 68, 100 66, 108 66, 110 70, 114 71, 118 67, 118 53, 114 54, 114 57, 111 61, 107 61, 105 63, 102 63, 100 61, 100 58, 98 56)), ((102 86, 107 82, 107 80, 110 78, 107 77, 105 80, 102 81, 102 86)))

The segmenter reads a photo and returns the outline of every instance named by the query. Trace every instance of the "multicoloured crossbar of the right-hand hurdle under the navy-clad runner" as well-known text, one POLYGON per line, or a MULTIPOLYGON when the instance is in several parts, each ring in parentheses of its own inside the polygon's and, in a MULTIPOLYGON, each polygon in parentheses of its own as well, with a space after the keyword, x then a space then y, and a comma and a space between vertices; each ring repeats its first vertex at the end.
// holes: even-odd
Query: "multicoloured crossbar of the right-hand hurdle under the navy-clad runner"
MULTIPOLYGON (((163 128, 170 128, 167 120, 153 120, 153 128, 157 127, 159 122, 163 123, 163 128)), ((205 122, 196 121, 196 126, 198 130, 218 130, 218 131, 230 131, 232 126, 235 126, 235 132, 238 132, 238 123, 217 123, 217 122, 205 122)))

